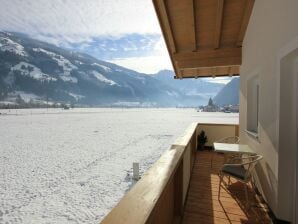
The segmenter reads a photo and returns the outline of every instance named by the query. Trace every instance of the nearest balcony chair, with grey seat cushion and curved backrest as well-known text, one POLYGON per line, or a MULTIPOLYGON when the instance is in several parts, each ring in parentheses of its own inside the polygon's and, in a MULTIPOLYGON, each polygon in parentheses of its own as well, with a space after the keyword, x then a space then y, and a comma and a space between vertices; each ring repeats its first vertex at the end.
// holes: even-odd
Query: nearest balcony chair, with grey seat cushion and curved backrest
POLYGON ((261 155, 254 155, 235 159, 235 162, 238 161, 238 163, 224 164, 219 171, 220 181, 218 189, 218 199, 220 199, 220 190, 223 178, 227 176, 229 178, 230 184, 230 177, 233 177, 244 184, 246 203, 247 205, 249 205, 247 185, 249 184, 249 182, 251 182, 253 169, 262 158, 263 157, 261 155))

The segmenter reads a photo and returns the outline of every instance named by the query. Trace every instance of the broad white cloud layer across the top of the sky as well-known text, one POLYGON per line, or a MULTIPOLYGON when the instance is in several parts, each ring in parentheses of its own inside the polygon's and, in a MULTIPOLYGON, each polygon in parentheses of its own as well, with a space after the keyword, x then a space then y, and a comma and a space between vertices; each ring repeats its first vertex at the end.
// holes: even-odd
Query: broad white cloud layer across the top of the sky
POLYGON ((50 41, 160 33, 151 0, 0 0, 0 29, 50 41))

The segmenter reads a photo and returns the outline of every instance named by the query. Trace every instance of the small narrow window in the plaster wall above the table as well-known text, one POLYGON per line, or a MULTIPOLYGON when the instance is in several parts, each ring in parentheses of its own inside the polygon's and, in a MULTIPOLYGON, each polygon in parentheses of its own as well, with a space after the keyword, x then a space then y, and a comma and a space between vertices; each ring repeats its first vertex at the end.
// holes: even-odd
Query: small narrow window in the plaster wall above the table
POLYGON ((256 75, 247 82, 247 131, 258 137, 259 124, 259 77, 256 75))

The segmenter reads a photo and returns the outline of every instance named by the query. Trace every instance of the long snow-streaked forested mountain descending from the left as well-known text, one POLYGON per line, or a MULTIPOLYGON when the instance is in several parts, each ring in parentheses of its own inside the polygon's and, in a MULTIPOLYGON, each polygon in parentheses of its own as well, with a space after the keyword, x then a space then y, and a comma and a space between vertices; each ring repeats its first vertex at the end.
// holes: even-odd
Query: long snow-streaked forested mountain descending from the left
MULTIPOLYGON (((173 76, 168 77, 169 80, 173 76)), ((177 83, 177 84, 181 84, 177 83)), ((204 82, 205 85, 209 85, 204 82)), ((149 76, 19 33, 0 32, 0 101, 89 106, 197 106, 189 94, 149 76)), ((214 90, 215 91, 215 90, 214 90)))

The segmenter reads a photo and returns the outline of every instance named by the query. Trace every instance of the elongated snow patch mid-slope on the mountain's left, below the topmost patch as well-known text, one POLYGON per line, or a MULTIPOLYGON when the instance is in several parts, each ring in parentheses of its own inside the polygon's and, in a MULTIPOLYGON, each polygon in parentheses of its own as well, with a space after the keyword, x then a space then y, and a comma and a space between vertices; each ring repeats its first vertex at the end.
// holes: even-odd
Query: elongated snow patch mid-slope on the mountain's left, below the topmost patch
POLYGON ((37 80, 57 81, 56 78, 50 77, 49 75, 43 73, 35 65, 27 62, 20 62, 19 64, 16 64, 11 68, 11 71, 19 71, 21 75, 30 76, 37 80))

